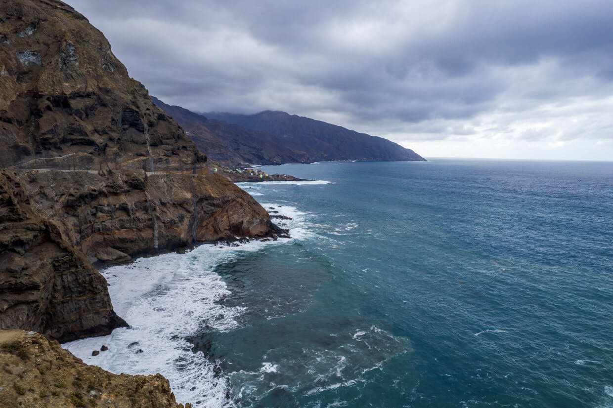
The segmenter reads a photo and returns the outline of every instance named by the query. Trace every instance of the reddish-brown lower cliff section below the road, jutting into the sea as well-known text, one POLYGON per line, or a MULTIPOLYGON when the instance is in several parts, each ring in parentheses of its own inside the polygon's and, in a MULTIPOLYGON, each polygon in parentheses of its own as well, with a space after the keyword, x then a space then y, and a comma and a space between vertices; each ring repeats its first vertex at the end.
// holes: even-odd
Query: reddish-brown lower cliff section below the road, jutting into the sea
POLYGON ((219 175, 140 172, 22 173, 37 210, 66 226, 67 240, 91 260, 134 255, 197 241, 281 232, 251 197, 219 175))

